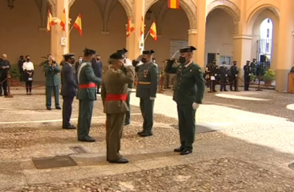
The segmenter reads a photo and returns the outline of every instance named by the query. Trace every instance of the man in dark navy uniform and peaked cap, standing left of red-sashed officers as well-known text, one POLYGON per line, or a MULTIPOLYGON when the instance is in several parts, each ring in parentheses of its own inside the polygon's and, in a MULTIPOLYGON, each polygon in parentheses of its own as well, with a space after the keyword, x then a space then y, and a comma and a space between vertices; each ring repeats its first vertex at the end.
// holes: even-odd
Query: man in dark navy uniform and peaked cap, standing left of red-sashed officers
POLYGON ((75 72, 73 71, 73 64, 75 63, 75 54, 68 53, 64 56, 64 66, 62 67, 62 128, 75 129, 71 125, 71 112, 73 111, 73 98, 77 95, 77 84, 75 83, 75 72))

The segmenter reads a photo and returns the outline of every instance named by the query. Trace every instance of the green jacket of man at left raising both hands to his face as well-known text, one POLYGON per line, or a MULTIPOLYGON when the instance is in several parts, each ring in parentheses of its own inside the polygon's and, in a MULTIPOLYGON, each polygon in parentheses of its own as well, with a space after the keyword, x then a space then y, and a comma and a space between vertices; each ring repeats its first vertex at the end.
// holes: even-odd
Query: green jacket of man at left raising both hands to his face
POLYGON ((44 73, 46 77, 46 86, 59 86, 60 84, 60 78, 58 73, 60 73, 61 70, 56 64, 55 67, 50 66, 48 61, 44 64, 44 73))

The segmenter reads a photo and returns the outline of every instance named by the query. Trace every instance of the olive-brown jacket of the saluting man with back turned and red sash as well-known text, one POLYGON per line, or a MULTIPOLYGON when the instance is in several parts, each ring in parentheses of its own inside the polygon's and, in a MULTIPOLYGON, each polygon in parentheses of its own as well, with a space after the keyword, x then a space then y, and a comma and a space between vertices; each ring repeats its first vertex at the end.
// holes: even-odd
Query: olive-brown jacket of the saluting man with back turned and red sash
POLYGON ((127 95, 128 84, 132 84, 135 79, 134 66, 127 66, 123 70, 109 68, 104 74, 101 87, 101 98, 104 106, 104 113, 124 113, 129 111, 126 101, 106 101, 107 94, 127 95))

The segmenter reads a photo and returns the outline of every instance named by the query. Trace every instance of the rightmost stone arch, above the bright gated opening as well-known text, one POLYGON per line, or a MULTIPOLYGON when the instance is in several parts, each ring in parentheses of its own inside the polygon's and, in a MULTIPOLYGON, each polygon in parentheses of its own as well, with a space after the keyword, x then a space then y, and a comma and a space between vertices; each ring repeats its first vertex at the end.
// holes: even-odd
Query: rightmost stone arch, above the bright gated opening
POLYGON ((273 3, 268 3, 268 1, 264 0, 257 2, 246 12, 246 34, 251 34, 255 20, 266 9, 271 10, 275 14, 275 17, 279 19, 279 4, 277 1, 273 1, 273 3))

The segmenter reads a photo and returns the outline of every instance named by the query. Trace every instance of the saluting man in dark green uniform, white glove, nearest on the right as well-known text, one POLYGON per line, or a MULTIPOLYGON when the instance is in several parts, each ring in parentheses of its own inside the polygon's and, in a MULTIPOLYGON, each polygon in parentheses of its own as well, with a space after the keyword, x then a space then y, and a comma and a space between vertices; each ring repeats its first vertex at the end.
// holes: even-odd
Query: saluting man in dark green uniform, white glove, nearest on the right
POLYGON ((180 133, 181 146, 174 152, 181 155, 192 153, 195 140, 195 113, 199 104, 202 104, 205 81, 199 65, 193 62, 193 46, 180 49, 180 65, 172 67, 174 58, 168 61, 166 73, 175 73, 177 84, 174 90, 174 101, 178 109, 178 130, 180 133))

